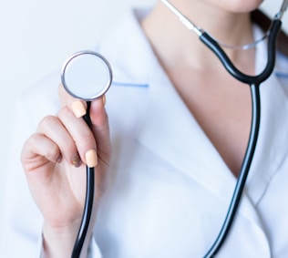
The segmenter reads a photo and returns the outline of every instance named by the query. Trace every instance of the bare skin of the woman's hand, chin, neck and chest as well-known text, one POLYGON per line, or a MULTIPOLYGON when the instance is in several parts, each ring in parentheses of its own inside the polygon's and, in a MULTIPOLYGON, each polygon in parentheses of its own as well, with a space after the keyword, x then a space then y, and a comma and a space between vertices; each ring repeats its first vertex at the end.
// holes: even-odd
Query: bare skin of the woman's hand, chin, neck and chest
MULTIPOLYGON (((247 12, 261 1, 171 0, 171 3, 215 38, 226 44, 241 45, 252 42, 252 25, 247 12)), ((155 5, 141 26, 180 97, 231 172, 237 175, 250 130, 249 87, 228 75, 211 50, 162 3, 155 5)), ((227 54, 243 72, 254 74, 253 49, 227 50, 227 54)), ((98 165, 94 214, 83 257, 87 256, 98 200, 105 189, 111 150, 104 101, 99 98, 92 102, 90 130, 73 111, 72 103, 76 100, 60 86, 62 108, 56 116, 48 116, 39 123, 22 151, 26 179, 44 217, 45 257, 71 255, 85 200, 88 150, 97 151, 98 165)))

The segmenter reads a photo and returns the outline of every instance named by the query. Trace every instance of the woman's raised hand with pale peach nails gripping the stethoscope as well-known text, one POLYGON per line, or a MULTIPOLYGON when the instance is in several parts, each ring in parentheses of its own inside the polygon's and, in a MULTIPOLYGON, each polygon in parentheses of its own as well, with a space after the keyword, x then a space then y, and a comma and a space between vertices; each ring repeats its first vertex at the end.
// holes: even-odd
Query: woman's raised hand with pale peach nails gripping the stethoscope
POLYGON ((86 165, 95 167, 97 209, 110 159, 105 98, 92 101, 89 129, 81 118, 86 103, 70 97, 62 86, 59 96, 62 108, 57 116, 48 116, 39 123, 21 157, 30 191, 44 217, 47 257, 71 255, 84 209, 86 165))

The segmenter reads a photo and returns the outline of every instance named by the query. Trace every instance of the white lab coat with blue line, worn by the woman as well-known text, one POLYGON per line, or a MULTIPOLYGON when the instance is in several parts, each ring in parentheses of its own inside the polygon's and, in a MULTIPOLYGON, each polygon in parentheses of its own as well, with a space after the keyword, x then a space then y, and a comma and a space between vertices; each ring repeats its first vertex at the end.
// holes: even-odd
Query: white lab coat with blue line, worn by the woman
MULTIPOLYGON (((260 35, 255 29, 255 37, 260 35)), ((114 71, 107 94, 113 158, 91 257, 100 257, 98 252, 104 258, 202 257, 221 228, 234 176, 159 66, 134 14, 97 50, 114 71)), ((260 44, 257 71, 265 57, 265 44, 260 44)), ((37 84, 19 103, 1 257, 40 255, 42 218, 18 155, 39 120, 57 112, 58 83, 59 73, 37 84)), ((278 55, 261 97, 251 175, 217 257, 288 257, 287 58, 278 55)))

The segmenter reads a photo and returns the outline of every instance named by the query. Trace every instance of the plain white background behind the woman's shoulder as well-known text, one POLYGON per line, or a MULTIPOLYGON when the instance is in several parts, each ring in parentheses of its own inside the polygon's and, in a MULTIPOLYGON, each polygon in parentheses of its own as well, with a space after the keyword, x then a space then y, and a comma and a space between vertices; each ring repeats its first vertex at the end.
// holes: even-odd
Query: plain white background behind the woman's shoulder
MULTIPOLYGON (((38 79, 61 67, 72 53, 92 49, 130 5, 151 3, 154 0, 1 0, 0 207, 3 207, 9 148, 9 115, 14 100, 38 79)), ((274 15, 280 3, 281 0, 266 0, 263 8, 274 15)), ((283 24, 288 27, 288 14, 283 24)))

